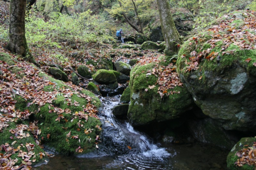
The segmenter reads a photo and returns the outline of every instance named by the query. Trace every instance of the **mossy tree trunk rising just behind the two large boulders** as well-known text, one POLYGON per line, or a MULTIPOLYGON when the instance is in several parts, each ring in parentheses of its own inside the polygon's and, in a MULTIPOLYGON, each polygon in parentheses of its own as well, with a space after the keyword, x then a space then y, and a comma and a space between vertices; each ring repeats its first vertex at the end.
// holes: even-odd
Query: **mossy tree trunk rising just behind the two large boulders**
POLYGON ((164 41, 166 43, 166 48, 164 53, 166 55, 174 55, 178 52, 178 44, 182 41, 180 40, 180 34, 175 28, 170 4, 168 0, 157 0, 157 5, 159 9, 160 22, 162 33, 164 35, 164 41))

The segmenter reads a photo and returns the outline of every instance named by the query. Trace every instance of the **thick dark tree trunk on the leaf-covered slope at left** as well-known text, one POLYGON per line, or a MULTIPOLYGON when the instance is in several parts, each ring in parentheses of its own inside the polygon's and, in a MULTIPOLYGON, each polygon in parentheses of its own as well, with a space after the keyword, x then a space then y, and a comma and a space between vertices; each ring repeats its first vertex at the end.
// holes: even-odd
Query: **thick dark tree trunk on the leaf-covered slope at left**
POLYGON ((28 50, 25 37, 26 5, 24 0, 10 1, 9 42, 6 49, 12 53, 22 55, 24 59, 34 63, 35 60, 28 50))

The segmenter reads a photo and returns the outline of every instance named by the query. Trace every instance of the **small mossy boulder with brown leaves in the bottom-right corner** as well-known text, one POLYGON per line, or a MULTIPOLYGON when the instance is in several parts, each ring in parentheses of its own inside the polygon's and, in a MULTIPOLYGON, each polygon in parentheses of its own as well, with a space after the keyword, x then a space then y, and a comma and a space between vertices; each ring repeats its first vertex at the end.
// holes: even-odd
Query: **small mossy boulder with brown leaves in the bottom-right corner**
POLYGON ((228 170, 255 170, 255 143, 255 137, 243 137, 238 141, 228 153, 228 170))

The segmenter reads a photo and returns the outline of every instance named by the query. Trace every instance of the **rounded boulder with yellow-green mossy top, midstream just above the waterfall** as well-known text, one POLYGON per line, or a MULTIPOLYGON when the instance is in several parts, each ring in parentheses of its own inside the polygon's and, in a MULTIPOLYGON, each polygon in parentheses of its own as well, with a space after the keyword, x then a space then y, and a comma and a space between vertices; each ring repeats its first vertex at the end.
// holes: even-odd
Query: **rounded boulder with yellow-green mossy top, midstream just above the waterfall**
POLYGON ((100 84, 108 85, 117 82, 116 76, 112 70, 97 70, 92 78, 100 84))

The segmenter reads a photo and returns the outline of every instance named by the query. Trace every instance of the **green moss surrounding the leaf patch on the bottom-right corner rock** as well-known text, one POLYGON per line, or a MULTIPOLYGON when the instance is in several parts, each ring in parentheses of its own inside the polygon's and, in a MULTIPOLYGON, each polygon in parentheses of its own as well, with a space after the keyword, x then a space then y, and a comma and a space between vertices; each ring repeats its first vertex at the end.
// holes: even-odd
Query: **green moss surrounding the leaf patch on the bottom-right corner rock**
POLYGON ((256 142, 255 137, 244 137, 239 142, 236 143, 236 145, 231 149, 227 156, 227 167, 229 170, 255 170, 255 166, 243 165, 238 167, 234 164, 237 161, 237 159, 239 159, 239 157, 235 155, 236 152, 243 148, 252 147, 254 142, 256 142))

